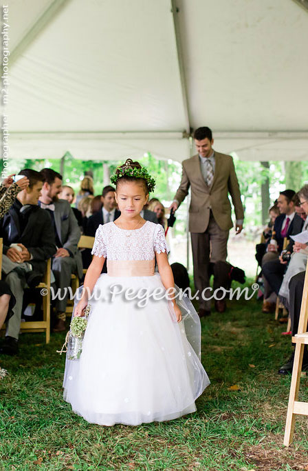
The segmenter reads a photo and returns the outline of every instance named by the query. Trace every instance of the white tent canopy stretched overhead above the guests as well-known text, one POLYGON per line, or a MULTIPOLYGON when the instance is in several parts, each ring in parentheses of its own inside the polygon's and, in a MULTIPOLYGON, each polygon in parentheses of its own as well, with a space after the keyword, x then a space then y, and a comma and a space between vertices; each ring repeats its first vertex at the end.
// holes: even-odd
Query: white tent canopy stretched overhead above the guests
POLYGON ((13 158, 308 155, 308 12, 293 0, 9 0, 13 158))

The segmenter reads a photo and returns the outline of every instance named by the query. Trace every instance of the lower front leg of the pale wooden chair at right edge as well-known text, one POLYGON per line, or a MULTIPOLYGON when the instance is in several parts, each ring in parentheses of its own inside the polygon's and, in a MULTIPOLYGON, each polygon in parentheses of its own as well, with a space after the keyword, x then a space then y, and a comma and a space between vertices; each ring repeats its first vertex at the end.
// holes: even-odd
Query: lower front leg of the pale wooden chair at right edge
POLYGON ((296 343, 294 364, 292 371, 292 380, 289 395, 289 404, 287 407, 287 421, 285 423, 285 439, 283 444, 289 446, 293 441, 294 425, 295 425, 295 414, 294 414, 294 402, 298 399, 298 391, 300 388, 300 374, 302 372, 303 354, 304 354, 303 343, 296 343))

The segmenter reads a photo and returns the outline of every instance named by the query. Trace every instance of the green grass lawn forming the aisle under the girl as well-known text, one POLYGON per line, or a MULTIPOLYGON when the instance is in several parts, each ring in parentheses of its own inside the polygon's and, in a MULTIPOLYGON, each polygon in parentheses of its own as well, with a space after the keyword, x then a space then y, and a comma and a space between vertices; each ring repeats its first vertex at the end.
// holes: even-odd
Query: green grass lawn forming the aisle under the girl
MULTIPOLYGON (((1 357, 1 470, 308 470, 307 418, 283 447, 290 377, 285 324, 256 300, 229 301, 202 319, 202 361, 211 385, 197 412, 137 427, 91 425, 62 399, 64 334, 22 334, 19 357, 1 357), (238 386, 230 390, 231 386, 238 386)), ((308 401, 307 379, 300 400, 308 401)), ((87 400, 87 398, 85 398, 87 400)))

